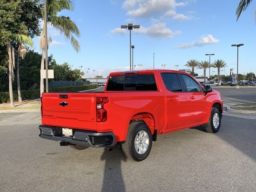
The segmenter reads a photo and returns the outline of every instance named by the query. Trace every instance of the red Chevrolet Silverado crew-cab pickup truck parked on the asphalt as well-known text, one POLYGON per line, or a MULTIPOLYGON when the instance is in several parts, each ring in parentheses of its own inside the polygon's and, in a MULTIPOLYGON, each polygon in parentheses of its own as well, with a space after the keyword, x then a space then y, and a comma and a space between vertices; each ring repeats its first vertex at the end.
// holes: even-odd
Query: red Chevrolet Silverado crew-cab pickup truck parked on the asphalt
POLYGON ((78 150, 121 145, 141 161, 157 135, 200 125, 218 132, 222 111, 220 93, 186 72, 113 72, 103 92, 43 93, 39 136, 78 150))

